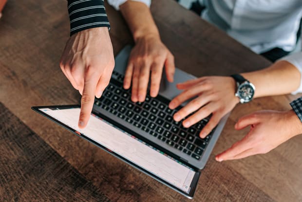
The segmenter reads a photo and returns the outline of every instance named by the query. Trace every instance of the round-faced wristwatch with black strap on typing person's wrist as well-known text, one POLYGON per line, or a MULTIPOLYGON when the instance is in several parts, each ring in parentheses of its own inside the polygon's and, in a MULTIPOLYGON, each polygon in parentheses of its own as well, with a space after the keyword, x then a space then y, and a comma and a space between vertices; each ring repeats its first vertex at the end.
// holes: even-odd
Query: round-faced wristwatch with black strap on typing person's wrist
POLYGON ((250 102, 255 94, 255 86, 240 74, 232 74, 231 77, 236 81, 235 96, 239 98, 240 103, 250 102))

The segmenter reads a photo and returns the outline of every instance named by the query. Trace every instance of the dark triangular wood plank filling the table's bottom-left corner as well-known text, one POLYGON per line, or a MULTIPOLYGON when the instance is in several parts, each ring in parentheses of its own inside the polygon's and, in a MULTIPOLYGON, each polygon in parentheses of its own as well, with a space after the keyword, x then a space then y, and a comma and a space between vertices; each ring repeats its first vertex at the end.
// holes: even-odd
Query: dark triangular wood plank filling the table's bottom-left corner
POLYGON ((0 201, 109 199, 0 103, 0 201))

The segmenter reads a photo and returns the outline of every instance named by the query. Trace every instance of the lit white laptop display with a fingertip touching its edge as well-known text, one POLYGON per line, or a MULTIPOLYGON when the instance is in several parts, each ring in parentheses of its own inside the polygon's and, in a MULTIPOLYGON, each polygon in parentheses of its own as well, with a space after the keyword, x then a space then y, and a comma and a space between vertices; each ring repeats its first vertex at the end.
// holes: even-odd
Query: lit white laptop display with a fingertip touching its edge
POLYGON ((114 127, 94 114, 91 115, 87 127, 79 129, 77 121, 80 108, 78 107, 68 109, 49 107, 38 108, 37 110, 52 117, 54 121, 61 122, 59 124, 73 129, 74 132, 83 138, 98 146, 105 147, 111 153, 117 154, 118 157, 122 157, 122 160, 132 162, 139 169, 152 177, 155 176, 157 180, 163 180, 172 188, 180 189, 187 194, 192 191, 190 189, 196 188, 191 187, 197 184, 197 182, 192 183, 197 176, 194 169, 131 134, 114 127))

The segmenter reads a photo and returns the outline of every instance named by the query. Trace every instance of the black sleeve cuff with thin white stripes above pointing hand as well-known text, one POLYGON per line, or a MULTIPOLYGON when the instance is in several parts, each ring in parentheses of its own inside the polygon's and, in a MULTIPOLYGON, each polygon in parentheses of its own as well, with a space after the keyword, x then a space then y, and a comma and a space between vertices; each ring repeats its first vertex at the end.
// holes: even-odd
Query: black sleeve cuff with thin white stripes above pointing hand
POLYGON ((68 0, 68 13, 70 36, 94 27, 108 27, 110 29, 104 0, 68 0))

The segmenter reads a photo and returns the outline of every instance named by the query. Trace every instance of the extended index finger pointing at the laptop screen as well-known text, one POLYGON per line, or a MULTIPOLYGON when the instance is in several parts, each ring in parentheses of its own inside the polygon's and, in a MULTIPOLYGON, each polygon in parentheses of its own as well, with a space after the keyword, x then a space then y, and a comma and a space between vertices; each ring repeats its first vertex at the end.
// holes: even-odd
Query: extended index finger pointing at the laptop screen
POLYGON ((94 94, 98 82, 97 76, 85 76, 84 89, 81 99, 81 111, 78 127, 83 129, 87 126, 92 108, 94 106, 94 94))

